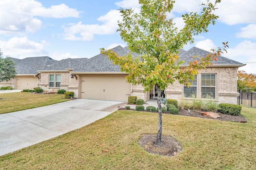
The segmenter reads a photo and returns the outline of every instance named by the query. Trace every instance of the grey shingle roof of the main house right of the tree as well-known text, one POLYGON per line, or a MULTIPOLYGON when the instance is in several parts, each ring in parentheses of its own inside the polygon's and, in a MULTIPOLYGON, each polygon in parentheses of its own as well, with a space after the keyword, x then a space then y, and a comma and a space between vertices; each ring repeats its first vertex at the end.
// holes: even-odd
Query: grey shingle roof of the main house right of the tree
MULTIPOLYGON (((200 59, 202 57, 205 57, 209 53, 210 53, 209 51, 205 51, 205 50, 199 49, 197 47, 192 47, 188 51, 179 55, 179 58, 180 58, 180 60, 185 61, 182 65, 188 65, 189 62, 194 61, 194 59, 192 58, 193 56, 198 56, 198 59, 200 59)), ((228 59, 226 57, 219 56, 218 61, 213 62, 213 66, 216 64, 218 64, 218 65, 222 65, 222 64, 223 65, 232 65, 232 64, 240 65, 242 63, 228 59)))

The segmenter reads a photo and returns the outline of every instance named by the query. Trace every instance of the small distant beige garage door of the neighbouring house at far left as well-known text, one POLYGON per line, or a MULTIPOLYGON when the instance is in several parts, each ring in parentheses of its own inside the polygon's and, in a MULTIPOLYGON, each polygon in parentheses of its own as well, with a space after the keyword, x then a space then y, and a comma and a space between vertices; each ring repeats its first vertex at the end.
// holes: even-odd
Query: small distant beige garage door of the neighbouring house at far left
POLYGON ((36 77, 16 77, 15 89, 24 90, 29 89, 33 90, 34 87, 37 87, 37 78, 36 77))

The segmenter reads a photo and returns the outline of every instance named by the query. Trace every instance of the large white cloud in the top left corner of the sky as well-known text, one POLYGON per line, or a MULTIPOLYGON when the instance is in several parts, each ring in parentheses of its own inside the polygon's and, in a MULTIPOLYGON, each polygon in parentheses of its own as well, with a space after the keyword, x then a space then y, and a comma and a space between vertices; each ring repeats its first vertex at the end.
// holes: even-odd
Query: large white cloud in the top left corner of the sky
POLYGON ((79 17, 79 12, 65 4, 45 8, 35 0, 1 0, 0 34, 21 34, 40 29, 38 17, 67 18, 79 17))

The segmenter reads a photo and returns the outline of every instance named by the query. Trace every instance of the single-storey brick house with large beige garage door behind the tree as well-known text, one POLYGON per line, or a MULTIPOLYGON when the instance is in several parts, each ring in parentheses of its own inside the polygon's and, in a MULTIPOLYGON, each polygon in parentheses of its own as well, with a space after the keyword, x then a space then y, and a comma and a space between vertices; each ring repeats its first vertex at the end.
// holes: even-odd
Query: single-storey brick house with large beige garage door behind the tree
MULTIPOLYGON (((128 47, 112 49, 118 55, 127 55, 128 47)), ((180 60, 185 61, 180 67, 187 66, 192 56, 206 56, 209 52, 196 47, 188 51, 180 50, 180 60)), ((134 57, 138 54, 132 53, 134 57)), ((33 57, 32 57, 33 58, 33 57)), ((29 58, 27 58, 29 61, 29 58)), ((14 59, 15 60, 15 59, 14 59)), ((237 103, 237 69, 245 64, 218 57, 213 66, 208 66, 196 74, 190 88, 174 82, 168 86, 162 96, 175 100, 192 98, 213 99, 219 103, 237 103)), ((99 54, 90 59, 64 59, 47 64, 37 69, 33 75, 38 77, 38 86, 48 91, 65 89, 73 91, 74 97, 99 100, 128 101, 128 96, 137 96, 144 101, 150 100, 150 94, 157 98, 156 88, 144 92, 140 85, 133 86, 126 82, 127 73, 120 72, 120 67, 112 64, 107 56, 99 54)), ((19 68, 22 69, 22 68, 19 68)), ((16 85, 15 85, 16 87, 16 85)))

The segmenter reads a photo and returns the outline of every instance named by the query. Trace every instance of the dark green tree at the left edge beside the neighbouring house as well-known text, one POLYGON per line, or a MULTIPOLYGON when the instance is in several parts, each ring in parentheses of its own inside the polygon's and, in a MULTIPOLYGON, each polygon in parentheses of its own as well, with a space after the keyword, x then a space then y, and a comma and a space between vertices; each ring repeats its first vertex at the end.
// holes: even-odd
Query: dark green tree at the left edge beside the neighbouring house
POLYGON ((15 77, 15 63, 10 57, 3 57, 0 49, 0 82, 6 82, 15 77))

